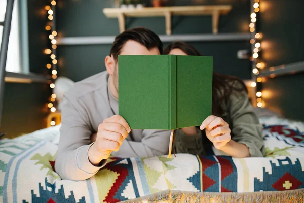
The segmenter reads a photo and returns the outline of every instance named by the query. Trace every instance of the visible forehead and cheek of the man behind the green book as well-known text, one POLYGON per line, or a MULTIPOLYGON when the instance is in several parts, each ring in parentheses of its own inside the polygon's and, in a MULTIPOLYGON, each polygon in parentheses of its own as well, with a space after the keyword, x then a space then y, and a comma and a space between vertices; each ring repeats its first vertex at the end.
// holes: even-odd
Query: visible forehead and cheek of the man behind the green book
MULTIPOLYGON (((120 55, 160 55, 160 51, 157 47, 148 50, 138 42, 129 40, 123 46, 120 55)), ((115 63, 115 70, 112 77, 115 89, 118 92, 118 60, 115 63)))

